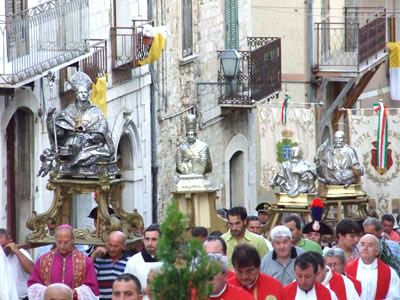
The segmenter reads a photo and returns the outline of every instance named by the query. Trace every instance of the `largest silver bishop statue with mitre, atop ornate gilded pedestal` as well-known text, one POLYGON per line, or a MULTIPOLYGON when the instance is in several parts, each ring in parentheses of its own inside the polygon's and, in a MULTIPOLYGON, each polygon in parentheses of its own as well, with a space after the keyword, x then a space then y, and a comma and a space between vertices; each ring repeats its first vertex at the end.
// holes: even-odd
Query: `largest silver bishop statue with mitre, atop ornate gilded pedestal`
POLYGON ((47 113, 51 149, 45 149, 41 156, 39 175, 42 176, 51 170, 53 156, 62 162, 66 173, 82 173, 94 163, 114 160, 114 143, 107 120, 100 108, 90 102, 92 81, 85 73, 77 72, 70 84, 76 100, 58 113, 54 107, 47 113))

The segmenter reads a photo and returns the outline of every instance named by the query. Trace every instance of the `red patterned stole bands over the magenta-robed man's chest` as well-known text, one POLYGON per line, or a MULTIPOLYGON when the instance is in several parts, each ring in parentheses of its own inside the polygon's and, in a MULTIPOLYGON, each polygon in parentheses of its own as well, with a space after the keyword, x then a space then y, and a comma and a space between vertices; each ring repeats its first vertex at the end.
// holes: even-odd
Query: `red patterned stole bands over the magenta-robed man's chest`
MULTIPOLYGON (((51 282, 51 267, 53 266, 54 257, 57 249, 53 249, 50 252, 43 254, 40 259, 40 279, 43 283, 48 286, 54 282, 51 282)), ((85 254, 79 250, 72 249, 72 265, 73 265, 73 286, 77 288, 81 286, 85 280, 86 274, 86 259, 85 254)))

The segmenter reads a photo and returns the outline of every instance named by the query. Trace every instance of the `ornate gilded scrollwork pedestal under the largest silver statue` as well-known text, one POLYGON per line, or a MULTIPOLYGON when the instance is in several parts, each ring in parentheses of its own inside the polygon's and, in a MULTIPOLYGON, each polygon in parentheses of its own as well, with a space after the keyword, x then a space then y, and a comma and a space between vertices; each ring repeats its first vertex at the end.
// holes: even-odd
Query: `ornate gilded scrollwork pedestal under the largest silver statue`
POLYGON ((26 241, 36 245, 54 243, 54 237, 47 232, 47 223, 54 220, 57 225, 72 224, 73 195, 94 192, 98 195, 96 199, 98 205, 96 232, 90 232, 88 229, 74 229, 75 244, 104 245, 108 234, 114 230, 123 231, 127 236, 127 242, 141 238, 137 230, 143 227, 143 218, 136 211, 128 213, 122 208, 123 186, 122 179, 115 179, 107 175, 92 179, 51 178, 47 189, 54 191, 53 202, 45 213, 33 212, 27 220, 27 227, 33 232, 27 236, 26 241), (115 214, 108 213, 109 205, 115 214))

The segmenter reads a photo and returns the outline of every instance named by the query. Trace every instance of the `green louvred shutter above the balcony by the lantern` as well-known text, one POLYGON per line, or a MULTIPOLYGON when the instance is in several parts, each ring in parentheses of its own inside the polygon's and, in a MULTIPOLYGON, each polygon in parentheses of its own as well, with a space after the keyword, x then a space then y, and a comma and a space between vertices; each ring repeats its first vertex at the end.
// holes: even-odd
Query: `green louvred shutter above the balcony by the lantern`
POLYGON ((239 49, 238 0, 225 0, 225 48, 239 49))

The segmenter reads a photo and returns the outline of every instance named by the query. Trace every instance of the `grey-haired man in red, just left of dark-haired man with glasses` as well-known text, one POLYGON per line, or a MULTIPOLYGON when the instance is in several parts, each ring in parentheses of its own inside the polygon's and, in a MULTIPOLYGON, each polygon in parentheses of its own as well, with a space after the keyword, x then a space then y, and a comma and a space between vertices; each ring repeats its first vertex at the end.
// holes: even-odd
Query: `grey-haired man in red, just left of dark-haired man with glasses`
POLYGON ((209 253, 210 261, 215 261, 221 267, 221 272, 211 281, 210 300, 254 300, 254 297, 242 288, 227 283, 228 257, 219 253, 209 253))

